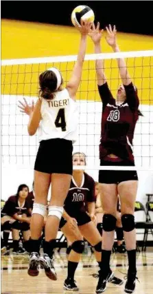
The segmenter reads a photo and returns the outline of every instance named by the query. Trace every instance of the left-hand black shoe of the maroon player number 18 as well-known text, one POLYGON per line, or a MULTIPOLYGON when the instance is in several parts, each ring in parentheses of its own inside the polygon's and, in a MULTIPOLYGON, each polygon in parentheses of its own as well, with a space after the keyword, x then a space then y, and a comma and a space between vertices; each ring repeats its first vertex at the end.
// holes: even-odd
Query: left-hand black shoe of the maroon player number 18
POLYGON ((103 293, 106 290, 106 285, 109 280, 113 279, 114 274, 112 271, 109 273, 102 273, 102 270, 99 271, 99 281, 97 283, 96 293, 103 293))

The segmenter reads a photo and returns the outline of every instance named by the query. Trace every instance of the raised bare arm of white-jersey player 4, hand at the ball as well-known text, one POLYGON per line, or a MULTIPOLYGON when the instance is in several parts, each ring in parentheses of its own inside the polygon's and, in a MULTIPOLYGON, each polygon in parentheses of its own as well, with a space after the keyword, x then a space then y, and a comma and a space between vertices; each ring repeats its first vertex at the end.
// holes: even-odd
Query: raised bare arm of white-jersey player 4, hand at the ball
POLYGON ((78 87, 80 85, 81 76, 82 76, 82 67, 84 63, 84 56, 86 53, 86 37, 89 33, 89 30, 91 28, 91 23, 82 22, 80 33, 81 33, 81 40, 80 40, 80 48, 78 52, 78 59, 75 63, 75 66, 73 68, 72 76, 67 83, 67 90, 69 92, 69 95, 71 98, 75 100, 75 94, 78 91, 78 87))

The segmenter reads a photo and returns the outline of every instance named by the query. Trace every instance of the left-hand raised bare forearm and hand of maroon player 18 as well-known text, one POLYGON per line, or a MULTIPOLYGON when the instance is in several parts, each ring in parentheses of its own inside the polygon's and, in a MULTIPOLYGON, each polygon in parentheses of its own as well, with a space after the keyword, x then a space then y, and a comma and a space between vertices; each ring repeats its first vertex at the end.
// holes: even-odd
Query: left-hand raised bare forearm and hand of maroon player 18
MULTIPOLYGON (((102 32, 103 30, 99 30, 99 23, 97 23, 97 28, 95 28, 95 25, 93 24, 92 30, 89 33, 95 45, 96 54, 102 53, 101 45, 100 45, 102 32)), ((104 83, 106 83, 106 76, 104 74, 104 61, 102 61, 102 59, 98 59, 97 61, 95 61, 95 67, 96 67, 96 73, 97 73, 97 84, 101 86, 104 83)))

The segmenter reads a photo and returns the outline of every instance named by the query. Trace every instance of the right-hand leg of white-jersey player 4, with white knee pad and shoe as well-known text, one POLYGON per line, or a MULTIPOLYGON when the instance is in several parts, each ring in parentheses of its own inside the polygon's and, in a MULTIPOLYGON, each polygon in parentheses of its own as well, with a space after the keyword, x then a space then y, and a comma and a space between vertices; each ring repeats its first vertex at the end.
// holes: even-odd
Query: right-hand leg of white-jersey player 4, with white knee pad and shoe
POLYGON ((51 201, 45 224, 44 255, 39 258, 40 264, 45 269, 45 274, 51 280, 57 280, 53 264, 53 254, 59 223, 62 218, 64 200, 67 197, 70 182, 71 175, 69 174, 51 174, 51 201))

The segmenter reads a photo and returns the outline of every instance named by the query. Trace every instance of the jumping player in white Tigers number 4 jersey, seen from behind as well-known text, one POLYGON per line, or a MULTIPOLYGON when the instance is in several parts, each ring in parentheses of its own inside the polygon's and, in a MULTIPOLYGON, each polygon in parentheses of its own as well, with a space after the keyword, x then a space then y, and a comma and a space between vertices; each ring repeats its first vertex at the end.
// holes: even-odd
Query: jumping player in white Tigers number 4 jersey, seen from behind
POLYGON ((66 88, 62 87, 60 72, 51 67, 39 76, 40 92, 36 105, 21 103, 23 112, 30 115, 28 133, 38 129, 40 147, 34 165, 35 202, 31 220, 31 252, 28 274, 38 275, 39 263, 43 262, 45 273, 57 280, 53 260, 49 256, 56 242, 64 200, 69 191, 72 175, 73 142, 77 138, 78 111, 75 94, 82 76, 82 65, 86 52, 86 36, 91 23, 82 22, 78 59, 66 88), (40 235, 47 209, 47 195, 51 183, 51 201, 45 225, 44 254, 39 255, 40 235))

